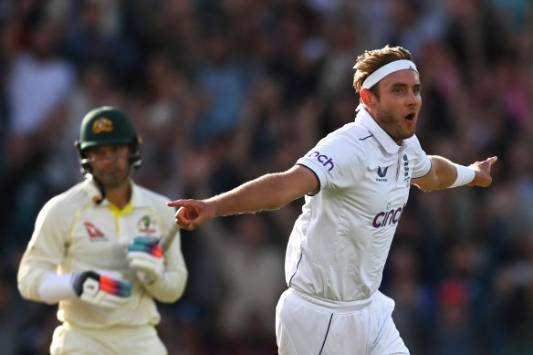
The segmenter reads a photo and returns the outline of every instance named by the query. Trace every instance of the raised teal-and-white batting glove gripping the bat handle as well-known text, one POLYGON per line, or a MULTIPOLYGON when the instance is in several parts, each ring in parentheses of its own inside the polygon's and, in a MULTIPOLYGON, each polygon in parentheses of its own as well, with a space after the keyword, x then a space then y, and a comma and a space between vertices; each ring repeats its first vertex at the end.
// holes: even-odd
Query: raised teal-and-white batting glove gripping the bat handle
POLYGON ((133 243, 128 245, 128 260, 144 285, 152 285, 162 278, 164 259, 157 239, 136 236, 133 243))

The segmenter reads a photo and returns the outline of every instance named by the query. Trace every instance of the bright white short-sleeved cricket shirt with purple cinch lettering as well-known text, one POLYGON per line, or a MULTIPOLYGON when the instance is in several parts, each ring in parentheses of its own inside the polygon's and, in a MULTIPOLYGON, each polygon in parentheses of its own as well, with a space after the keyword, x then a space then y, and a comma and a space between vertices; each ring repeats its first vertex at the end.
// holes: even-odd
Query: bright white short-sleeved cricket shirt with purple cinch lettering
POLYGON ((319 178, 286 256, 289 287, 335 301, 369 298, 381 284, 412 178, 431 169, 416 136, 396 144, 364 109, 297 164, 319 178))

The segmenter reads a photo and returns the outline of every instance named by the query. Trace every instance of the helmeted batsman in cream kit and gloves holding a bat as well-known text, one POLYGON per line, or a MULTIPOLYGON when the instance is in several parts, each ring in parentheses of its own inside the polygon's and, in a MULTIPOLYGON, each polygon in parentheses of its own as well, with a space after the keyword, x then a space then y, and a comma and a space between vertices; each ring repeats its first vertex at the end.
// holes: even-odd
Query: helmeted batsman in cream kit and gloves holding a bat
POLYGON ((51 354, 166 354, 155 300, 176 301, 188 277, 169 199, 131 180, 141 139, 121 110, 89 111, 76 146, 87 178, 38 214, 20 293, 59 303, 51 354))

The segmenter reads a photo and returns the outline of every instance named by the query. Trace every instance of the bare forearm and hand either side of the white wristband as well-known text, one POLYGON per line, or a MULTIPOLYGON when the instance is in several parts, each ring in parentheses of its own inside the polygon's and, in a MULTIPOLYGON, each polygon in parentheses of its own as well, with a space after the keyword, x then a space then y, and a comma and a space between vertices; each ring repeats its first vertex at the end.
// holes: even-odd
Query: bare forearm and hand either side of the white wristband
MULTIPOLYGON (((458 173, 455 164, 437 155, 431 155, 429 158, 432 162, 431 170, 427 175, 413 179, 412 183, 425 191, 445 189, 454 185, 458 173)), ((465 184, 468 186, 490 186, 492 183, 490 170, 492 164, 496 161, 497 157, 491 157, 483 162, 474 162, 473 164, 470 164, 468 168, 474 172, 474 179, 465 184)), ((463 167, 463 169, 465 168, 463 167)))

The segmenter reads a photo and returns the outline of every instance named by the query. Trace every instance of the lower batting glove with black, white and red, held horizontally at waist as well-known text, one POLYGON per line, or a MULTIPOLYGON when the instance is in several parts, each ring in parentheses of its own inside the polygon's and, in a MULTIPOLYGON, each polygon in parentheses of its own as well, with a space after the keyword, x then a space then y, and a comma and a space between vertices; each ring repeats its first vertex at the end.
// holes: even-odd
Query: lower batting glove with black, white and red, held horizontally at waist
POLYGON ((85 271, 72 277, 72 288, 86 302, 101 308, 117 308, 128 301, 133 285, 131 282, 85 271))

